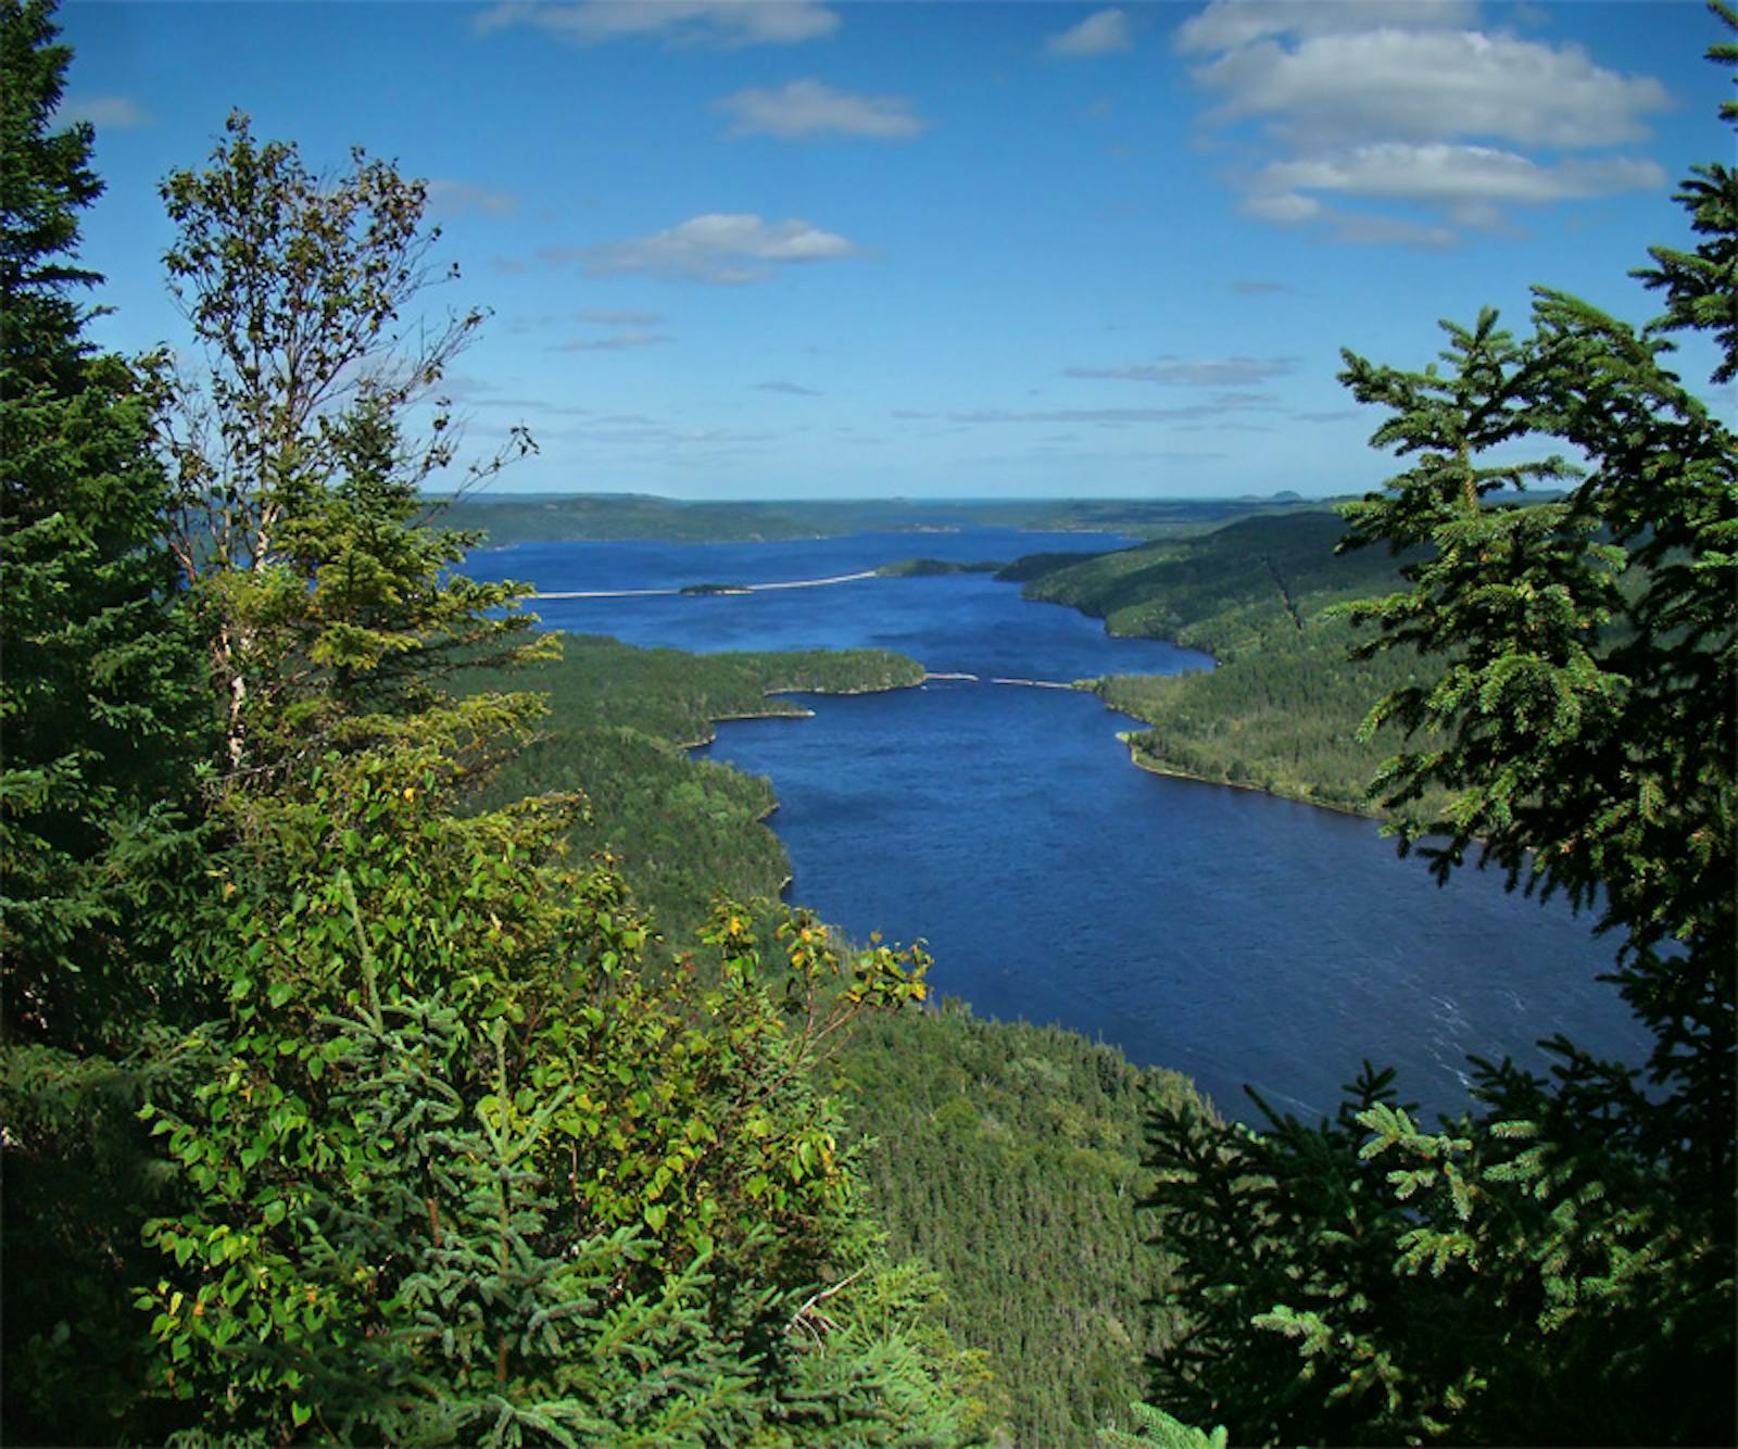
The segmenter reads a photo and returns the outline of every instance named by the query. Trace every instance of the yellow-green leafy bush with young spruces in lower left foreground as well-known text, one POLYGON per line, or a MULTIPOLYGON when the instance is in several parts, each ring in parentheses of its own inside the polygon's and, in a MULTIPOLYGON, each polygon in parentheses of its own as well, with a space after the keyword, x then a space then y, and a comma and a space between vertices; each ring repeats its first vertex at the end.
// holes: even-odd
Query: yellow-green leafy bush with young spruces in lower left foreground
POLYGON ((852 1402, 947 1439, 944 1340, 902 1313, 836 1345, 808 1303, 921 1300, 864 1256, 810 1086, 921 959, 791 917, 773 987, 721 909, 718 985, 653 983, 614 872, 561 865, 560 801, 452 813, 452 716, 231 797, 262 848, 195 935, 229 1011, 162 1044, 182 1086, 144 1108, 188 1192, 146 1225, 156 1392, 212 1433, 799 1442, 852 1402))

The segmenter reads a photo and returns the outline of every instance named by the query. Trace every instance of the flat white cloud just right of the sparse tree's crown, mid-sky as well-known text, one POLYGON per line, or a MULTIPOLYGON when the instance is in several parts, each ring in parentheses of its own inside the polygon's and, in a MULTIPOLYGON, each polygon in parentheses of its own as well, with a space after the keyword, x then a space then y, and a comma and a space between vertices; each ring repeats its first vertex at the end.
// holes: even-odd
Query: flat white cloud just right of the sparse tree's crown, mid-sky
POLYGON ((647 271, 653 276, 733 285, 763 281, 775 268, 853 257, 859 247, 796 217, 768 222, 753 214, 709 212, 680 226, 596 247, 551 248, 546 261, 579 261, 594 276, 647 271))

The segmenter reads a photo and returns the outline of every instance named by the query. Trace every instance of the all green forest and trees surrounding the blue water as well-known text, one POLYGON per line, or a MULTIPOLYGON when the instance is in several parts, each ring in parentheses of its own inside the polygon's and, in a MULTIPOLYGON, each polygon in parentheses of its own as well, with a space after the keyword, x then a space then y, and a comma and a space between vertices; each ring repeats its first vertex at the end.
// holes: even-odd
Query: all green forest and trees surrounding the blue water
POLYGON ((162 179, 184 353, 94 344, 76 64, 0 0, 3 1442, 1738 1439, 1738 438, 1674 347, 1738 377, 1729 156, 1635 257, 1656 316, 1540 287, 1345 353, 1380 490, 1057 506, 1151 542, 1003 570, 1215 657, 1083 681, 1137 764, 1622 947, 1644 1060, 1474 1062, 1448 1119, 1347 1062, 1255 1129, 784 903, 770 785, 688 749, 919 664, 561 638, 466 575, 497 521, 829 525, 485 502, 535 441, 440 401, 485 316, 422 311, 424 182, 231 115, 162 179))

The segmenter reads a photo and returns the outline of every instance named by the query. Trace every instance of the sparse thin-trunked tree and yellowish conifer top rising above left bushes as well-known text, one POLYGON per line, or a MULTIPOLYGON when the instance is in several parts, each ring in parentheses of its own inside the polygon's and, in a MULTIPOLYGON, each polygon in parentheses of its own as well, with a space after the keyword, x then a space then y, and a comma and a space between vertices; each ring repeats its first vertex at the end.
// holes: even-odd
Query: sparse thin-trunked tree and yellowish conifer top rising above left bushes
MULTIPOLYGON (((339 718, 414 709, 447 655, 476 658, 481 639, 527 627, 492 613, 523 589, 443 577, 473 535, 412 526, 459 429, 436 396, 426 434, 408 440, 407 408, 483 314, 415 314, 441 280, 428 189, 360 149, 351 162, 315 175, 294 144, 255 141, 235 113, 205 170, 162 184, 169 283, 198 353, 156 360, 158 441, 229 770, 282 754, 283 740, 255 738, 262 719, 318 737, 308 726, 325 705, 339 718)), ((530 447, 514 429, 469 480, 530 447)))

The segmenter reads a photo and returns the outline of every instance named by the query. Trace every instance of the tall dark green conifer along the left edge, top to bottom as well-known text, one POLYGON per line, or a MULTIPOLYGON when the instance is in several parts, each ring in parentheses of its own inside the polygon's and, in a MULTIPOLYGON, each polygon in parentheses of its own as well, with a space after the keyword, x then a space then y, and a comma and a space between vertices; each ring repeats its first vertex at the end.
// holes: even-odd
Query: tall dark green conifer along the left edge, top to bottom
POLYGON ((198 874, 200 662, 134 370, 85 339, 89 125, 52 7, 0 0, 0 1119, 9 1437, 113 1435, 149 1192, 123 1056, 198 1009, 170 968, 198 874))

